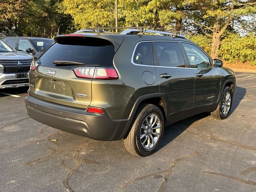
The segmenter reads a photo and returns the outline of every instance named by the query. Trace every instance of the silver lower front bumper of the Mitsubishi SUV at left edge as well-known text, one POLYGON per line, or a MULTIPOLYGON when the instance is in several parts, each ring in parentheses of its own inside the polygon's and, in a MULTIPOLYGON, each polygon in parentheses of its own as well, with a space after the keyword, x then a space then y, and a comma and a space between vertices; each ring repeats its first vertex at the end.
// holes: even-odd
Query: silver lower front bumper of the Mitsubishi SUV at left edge
MULTIPOLYGON (((28 74, 27 74, 28 76, 28 74)), ((28 78, 16 79, 16 74, 1 74, 0 89, 29 86, 28 78)))

